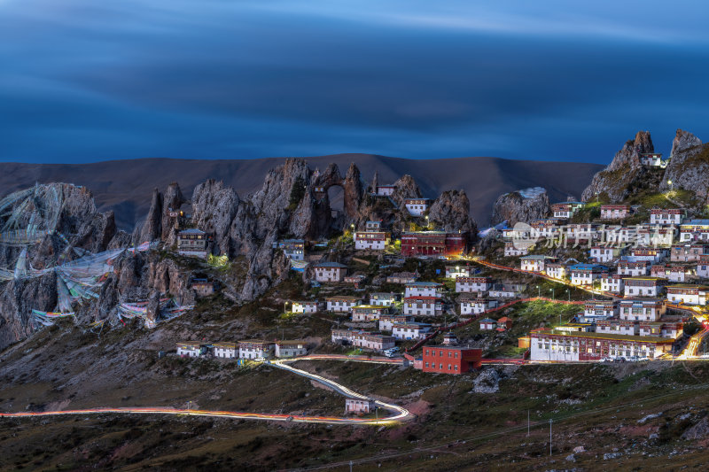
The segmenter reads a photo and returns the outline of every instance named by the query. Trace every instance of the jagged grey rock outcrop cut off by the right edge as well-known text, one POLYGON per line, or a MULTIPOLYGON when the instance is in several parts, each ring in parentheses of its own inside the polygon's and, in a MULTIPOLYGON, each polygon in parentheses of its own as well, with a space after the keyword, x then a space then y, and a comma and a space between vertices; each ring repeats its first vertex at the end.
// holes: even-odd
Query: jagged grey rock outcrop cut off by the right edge
POLYGON ((670 187, 692 190, 703 201, 709 197, 709 146, 682 129, 674 135, 670 161, 660 188, 669 190, 670 187))

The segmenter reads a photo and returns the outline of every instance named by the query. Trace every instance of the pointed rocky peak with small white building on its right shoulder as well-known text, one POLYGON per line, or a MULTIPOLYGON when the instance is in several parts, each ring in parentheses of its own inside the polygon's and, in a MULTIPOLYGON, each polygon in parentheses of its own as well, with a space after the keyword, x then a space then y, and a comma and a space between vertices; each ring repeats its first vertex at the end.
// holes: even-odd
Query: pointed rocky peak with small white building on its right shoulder
POLYGON ((653 151, 650 132, 638 131, 635 139, 616 152, 611 164, 594 175, 581 199, 589 201, 597 196, 618 203, 642 190, 658 190, 662 173, 643 166, 639 159, 640 153, 653 151))

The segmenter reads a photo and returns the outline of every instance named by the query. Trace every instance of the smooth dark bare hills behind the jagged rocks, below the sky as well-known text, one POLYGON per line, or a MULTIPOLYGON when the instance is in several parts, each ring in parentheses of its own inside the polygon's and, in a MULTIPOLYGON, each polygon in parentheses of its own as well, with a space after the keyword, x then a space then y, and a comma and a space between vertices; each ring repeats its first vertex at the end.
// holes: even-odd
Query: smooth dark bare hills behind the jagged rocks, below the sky
MULTIPOLYGON (((88 187, 98 209, 113 210, 120 228, 132 228, 150 206, 152 190, 179 182, 185 195, 208 178, 224 181, 240 196, 261 187, 264 175, 285 158, 269 159, 131 159, 91 164, 0 163, 0 193, 7 194, 35 182, 72 182, 88 187)), ((370 181, 374 171, 379 182, 394 182, 411 174, 425 197, 444 190, 463 189, 471 200, 471 215, 487 224, 500 194, 541 186, 552 201, 568 194, 580 197, 591 177, 603 166, 572 162, 542 162, 497 158, 398 159, 371 154, 335 154, 308 158, 312 167, 324 170, 331 162, 344 172, 351 162, 370 181)))

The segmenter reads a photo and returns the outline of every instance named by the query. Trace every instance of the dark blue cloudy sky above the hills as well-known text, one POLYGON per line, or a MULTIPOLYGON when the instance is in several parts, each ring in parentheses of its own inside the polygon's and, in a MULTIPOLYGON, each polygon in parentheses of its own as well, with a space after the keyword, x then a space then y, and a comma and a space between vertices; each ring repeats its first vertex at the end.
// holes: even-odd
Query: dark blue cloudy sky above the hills
POLYGON ((709 6, 583 4, 0 0, 0 160, 605 163, 639 129, 709 139, 709 6))

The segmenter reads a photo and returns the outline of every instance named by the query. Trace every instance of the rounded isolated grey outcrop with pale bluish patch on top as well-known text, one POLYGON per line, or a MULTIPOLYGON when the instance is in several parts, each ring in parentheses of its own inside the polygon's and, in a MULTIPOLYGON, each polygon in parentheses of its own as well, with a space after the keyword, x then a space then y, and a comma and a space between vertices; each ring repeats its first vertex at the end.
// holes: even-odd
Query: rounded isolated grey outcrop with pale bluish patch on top
POLYGON ((493 206, 491 221, 493 225, 507 221, 507 225, 513 227, 519 221, 530 223, 541 220, 550 212, 547 190, 537 187, 505 193, 498 197, 493 206))

